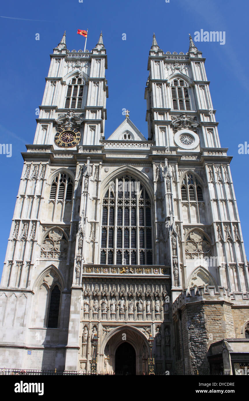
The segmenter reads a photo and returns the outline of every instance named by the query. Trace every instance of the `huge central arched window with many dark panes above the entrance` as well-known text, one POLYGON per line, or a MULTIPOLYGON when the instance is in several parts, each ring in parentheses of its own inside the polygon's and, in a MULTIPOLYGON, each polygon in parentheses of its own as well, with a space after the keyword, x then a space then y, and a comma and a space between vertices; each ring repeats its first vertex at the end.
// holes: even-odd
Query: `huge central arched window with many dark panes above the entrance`
POLYGON ((151 200, 129 175, 116 178, 102 202, 101 264, 151 265, 151 200))

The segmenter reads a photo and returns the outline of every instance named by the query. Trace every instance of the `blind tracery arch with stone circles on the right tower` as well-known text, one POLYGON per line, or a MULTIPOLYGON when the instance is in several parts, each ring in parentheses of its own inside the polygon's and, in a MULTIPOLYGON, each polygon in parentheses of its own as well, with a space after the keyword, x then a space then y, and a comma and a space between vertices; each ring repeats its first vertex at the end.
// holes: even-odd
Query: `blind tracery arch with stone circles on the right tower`
POLYGON ((199 230, 191 231, 185 241, 186 259, 203 259, 212 256, 208 238, 199 230))

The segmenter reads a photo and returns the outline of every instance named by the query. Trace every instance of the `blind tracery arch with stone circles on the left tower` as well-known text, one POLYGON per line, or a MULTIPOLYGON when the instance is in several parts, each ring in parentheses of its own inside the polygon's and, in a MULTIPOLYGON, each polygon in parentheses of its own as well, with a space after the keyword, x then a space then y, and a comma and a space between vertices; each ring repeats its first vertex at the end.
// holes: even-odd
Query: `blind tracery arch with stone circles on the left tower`
POLYGON ((68 243, 63 231, 58 228, 50 230, 41 244, 41 257, 66 259, 68 243))

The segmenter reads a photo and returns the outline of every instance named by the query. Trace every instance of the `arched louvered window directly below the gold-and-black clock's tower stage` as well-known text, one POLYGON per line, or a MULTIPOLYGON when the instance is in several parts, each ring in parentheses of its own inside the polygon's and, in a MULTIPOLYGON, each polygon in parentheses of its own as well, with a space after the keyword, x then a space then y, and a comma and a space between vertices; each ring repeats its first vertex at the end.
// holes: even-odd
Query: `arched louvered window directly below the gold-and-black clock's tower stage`
POLYGON ((50 190, 49 199, 71 201, 73 195, 73 181, 68 174, 59 173, 55 176, 50 190))

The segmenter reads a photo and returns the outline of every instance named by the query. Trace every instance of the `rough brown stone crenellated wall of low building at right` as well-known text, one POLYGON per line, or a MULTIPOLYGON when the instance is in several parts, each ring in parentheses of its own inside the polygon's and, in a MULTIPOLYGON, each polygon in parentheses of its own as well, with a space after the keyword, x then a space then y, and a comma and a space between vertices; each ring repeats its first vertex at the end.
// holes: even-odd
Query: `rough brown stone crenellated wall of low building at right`
MULTIPOLYGON (((173 320, 179 325, 180 360, 176 373, 209 374, 207 351, 213 342, 241 337, 248 321, 249 294, 233 294, 208 286, 184 290, 173 303, 173 320), (238 300, 239 296, 240 301, 238 300), (235 307, 236 306, 236 307, 235 307), (182 332, 181 332, 182 326, 182 332)), ((175 339, 176 340, 176 339, 175 339)), ((175 344, 175 349, 177 344, 175 344)))

